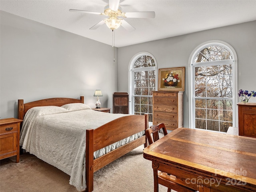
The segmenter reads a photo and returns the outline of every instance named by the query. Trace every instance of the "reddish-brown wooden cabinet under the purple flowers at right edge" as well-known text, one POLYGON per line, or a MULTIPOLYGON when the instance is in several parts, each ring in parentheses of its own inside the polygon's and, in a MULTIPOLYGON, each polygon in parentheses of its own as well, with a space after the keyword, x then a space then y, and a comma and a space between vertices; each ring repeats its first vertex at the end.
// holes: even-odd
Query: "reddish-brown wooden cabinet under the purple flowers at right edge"
POLYGON ((238 103, 237 105, 239 135, 256 138, 256 103, 238 103))

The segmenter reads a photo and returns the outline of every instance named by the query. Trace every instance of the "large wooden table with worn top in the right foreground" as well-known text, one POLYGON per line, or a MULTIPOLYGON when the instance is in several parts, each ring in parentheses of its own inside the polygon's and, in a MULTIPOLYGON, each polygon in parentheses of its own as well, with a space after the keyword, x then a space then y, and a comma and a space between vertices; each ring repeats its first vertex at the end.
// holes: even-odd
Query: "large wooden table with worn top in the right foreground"
POLYGON ((256 138, 177 128, 143 156, 200 192, 256 191, 256 138))

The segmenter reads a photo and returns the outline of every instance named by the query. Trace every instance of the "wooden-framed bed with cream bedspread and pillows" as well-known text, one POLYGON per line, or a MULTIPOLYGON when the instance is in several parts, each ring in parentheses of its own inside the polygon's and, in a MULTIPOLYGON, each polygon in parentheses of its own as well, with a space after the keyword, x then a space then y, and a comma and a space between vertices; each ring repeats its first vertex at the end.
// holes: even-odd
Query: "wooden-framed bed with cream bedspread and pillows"
POLYGON ((27 152, 69 174, 70 184, 78 191, 92 192, 94 172, 142 144, 147 146, 144 132, 148 128, 148 114, 109 114, 90 107, 70 110, 70 106, 73 108, 75 105, 86 106, 84 97, 48 98, 26 104, 24 100, 18 100, 18 118, 24 120, 20 145, 27 152), (42 109, 50 109, 51 112, 42 112, 42 109), (91 114, 97 118, 92 116, 92 120, 91 114), (33 116, 36 118, 32 119, 33 116), (70 122, 71 119, 74 122, 70 122), (56 127, 52 128, 52 124, 56 127), (88 124, 88 127, 82 128, 83 124, 88 124), (61 148, 57 158, 51 156, 56 153, 56 147, 61 148), (70 157, 68 160, 67 155, 70 157))

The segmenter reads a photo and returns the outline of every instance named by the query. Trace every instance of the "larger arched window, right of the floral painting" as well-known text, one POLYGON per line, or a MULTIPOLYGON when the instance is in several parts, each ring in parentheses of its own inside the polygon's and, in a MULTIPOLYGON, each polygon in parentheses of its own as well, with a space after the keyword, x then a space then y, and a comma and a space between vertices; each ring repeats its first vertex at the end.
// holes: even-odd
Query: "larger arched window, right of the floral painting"
POLYGON ((224 42, 206 42, 190 56, 190 127, 227 132, 235 126, 236 53, 224 42))

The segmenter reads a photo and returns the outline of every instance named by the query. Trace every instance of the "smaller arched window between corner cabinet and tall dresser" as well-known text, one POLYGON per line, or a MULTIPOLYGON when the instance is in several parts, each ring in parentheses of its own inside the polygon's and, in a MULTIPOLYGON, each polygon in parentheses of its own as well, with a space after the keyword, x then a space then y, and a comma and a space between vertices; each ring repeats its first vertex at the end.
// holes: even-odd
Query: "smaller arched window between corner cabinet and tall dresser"
POLYGON ((156 63, 148 53, 134 56, 130 63, 130 101, 131 114, 149 114, 152 122, 152 94, 156 90, 156 63))

